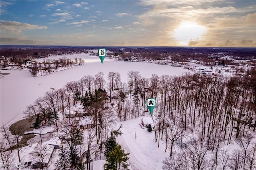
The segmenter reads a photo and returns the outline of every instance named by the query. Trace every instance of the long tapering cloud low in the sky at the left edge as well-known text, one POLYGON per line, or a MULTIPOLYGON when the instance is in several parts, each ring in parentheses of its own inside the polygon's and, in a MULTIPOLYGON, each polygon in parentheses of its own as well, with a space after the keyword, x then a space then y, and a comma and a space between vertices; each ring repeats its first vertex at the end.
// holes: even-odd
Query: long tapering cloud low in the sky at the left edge
POLYGON ((20 23, 16 21, 4 21, 1 20, 1 32, 10 31, 13 33, 21 33, 24 30, 37 30, 37 29, 47 29, 47 26, 38 26, 27 23, 20 23))

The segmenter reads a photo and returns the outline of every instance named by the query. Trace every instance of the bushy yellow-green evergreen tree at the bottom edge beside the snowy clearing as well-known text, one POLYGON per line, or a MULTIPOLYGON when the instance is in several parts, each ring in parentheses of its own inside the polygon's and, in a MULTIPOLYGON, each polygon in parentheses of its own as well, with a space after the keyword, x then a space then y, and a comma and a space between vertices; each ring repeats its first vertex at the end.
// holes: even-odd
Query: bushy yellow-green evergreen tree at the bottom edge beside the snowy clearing
POLYGON ((117 144, 108 156, 106 156, 107 163, 104 164, 104 170, 127 170, 128 169, 128 155, 125 153, 122 146, 117 144))

